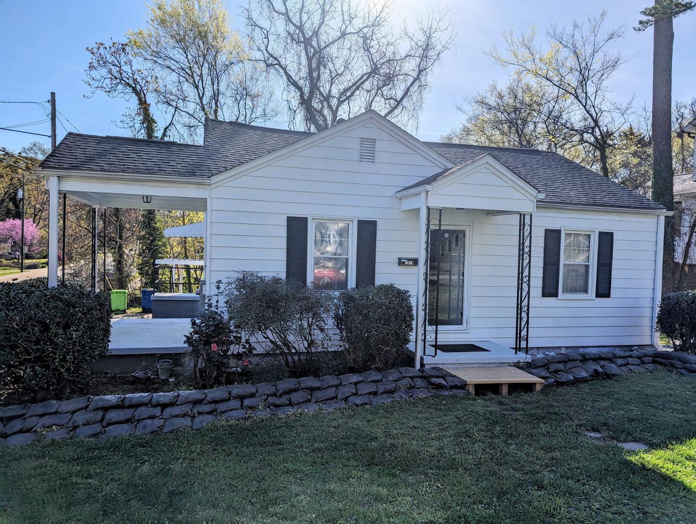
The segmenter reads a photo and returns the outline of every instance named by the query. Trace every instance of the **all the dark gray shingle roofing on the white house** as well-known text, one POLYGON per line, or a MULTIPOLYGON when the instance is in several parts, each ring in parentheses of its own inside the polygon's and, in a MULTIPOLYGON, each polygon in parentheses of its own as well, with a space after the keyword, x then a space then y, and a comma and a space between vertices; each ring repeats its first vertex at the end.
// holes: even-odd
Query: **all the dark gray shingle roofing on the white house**
MULTIPOLYGON (((68 133, 41 165, 65 170, 211 177, 311 134, 212 119, 205 121, 203 145, 68 133)), ((438 142, 425 145, 457 165, 492 154, 522 180, 545 193, 540 203, 664 209, 554 152, 438 142)), ((447 171, 409 188, 433 182, 447 171)))

